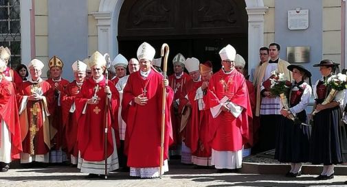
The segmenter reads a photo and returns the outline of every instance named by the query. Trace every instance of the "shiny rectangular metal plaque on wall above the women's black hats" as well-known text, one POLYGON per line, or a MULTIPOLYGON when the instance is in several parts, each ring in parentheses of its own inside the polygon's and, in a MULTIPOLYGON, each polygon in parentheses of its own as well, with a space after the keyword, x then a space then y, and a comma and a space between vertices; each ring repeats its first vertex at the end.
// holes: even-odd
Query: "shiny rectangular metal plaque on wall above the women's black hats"
POLYGON ((310 47, 287 47, 287 61, 290 63, 310 62, 310 47))

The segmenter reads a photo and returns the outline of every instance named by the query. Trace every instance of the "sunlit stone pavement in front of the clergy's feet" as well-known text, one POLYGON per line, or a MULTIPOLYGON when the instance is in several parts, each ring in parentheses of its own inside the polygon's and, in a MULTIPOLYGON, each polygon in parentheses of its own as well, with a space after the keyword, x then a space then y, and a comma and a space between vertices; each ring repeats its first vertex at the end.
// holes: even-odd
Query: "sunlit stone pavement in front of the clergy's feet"
POLYGON ((339 175, 327 181, 317 181, 317 175, 302 175, 292 179, 284 175, 246 173, 216 173, 215 169, 194 169, 173 163, 161 179, 137 179, 128 173, 115 172, 109 179, 85 179, 87 174, 70 166, 47 166, 40 169, 10 169, 0 173, 0 186, 346 186, 347 176, 339 175))

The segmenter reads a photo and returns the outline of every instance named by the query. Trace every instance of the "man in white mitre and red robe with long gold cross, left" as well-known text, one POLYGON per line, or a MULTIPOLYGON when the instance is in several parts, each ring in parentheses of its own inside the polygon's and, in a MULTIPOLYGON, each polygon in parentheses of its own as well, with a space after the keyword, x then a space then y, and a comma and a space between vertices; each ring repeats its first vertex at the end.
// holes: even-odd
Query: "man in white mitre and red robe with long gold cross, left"
POLYGON ((49 149, 56 129, 49 124, 49 105, 54 102, 54 90, 41 78, 43 63, 32 60, 27 67, 31 77, 17 89, 23 153, 21 163, 49 162, 49 149))

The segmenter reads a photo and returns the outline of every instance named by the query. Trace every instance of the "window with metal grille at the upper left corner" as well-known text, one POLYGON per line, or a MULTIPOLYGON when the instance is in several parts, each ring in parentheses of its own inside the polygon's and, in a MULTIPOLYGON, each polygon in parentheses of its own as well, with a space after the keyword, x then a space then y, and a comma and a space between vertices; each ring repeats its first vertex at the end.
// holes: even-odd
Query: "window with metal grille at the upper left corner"
POLYGON ((0 0, 0 46, 11 51, 10 66, 21 64, 21 6, 19 0, 0 0))

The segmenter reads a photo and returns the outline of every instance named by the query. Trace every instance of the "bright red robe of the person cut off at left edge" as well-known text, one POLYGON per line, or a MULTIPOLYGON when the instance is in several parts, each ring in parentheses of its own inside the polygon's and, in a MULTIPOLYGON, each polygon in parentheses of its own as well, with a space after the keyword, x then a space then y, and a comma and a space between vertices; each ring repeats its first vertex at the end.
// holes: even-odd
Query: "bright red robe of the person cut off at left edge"
POLYGON ((2 129, 1 120, 5 121, 8 131, 11 133, 11 157, 12 159, 18 159, 18 154, 22 151, 22 140, 16 93, 13 84, 4 77, 0 82, 0 131, 2 129))

